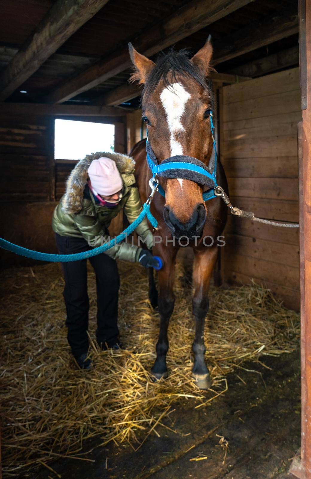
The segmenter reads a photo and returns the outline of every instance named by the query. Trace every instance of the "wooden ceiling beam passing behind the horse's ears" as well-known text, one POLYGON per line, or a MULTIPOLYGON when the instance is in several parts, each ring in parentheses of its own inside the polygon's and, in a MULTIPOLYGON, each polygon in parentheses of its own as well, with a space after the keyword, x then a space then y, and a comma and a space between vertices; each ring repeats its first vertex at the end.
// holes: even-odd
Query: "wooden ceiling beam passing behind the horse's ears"
MULTIPOLYGON (((216 83, 236 83, 236 81, 245 81, 250 80, 247 77, 237 77, 236 75, 228 73, 211 73, 211 80, 216 83)), ((111 91, 108 91, 104 95, 101 95, 95 102, 96 105, 105 105, 105 106, 117 106, 120 103, 126 102, 140 96, 142 92, 141 85, 131 85, 130 83, 124 83, 117 88, 114 88, 111 91)))

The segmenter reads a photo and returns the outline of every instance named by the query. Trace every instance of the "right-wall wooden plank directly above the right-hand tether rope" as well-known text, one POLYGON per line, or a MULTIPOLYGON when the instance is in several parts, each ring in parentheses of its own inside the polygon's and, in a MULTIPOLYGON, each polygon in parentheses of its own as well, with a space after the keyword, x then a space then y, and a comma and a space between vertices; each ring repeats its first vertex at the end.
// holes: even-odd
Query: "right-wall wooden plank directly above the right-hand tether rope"
POLYGON ((298 201, 297 178, 228 178, 228 185, 231 196, 298 201))

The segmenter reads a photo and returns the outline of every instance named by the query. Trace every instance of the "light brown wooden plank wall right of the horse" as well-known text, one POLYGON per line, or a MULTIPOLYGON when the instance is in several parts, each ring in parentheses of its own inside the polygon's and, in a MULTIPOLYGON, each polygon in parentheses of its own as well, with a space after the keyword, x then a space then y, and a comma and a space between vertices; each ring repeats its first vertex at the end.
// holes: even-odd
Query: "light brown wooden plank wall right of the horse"
MULTIPOLYGON (((233 205, 256 216, 298 222, 299 69, 222 89, 221 158, 233 205)), ((222 250, 228 283, 264 283, 284 303, 300 304, 299 229, 230 215, 222 250)))

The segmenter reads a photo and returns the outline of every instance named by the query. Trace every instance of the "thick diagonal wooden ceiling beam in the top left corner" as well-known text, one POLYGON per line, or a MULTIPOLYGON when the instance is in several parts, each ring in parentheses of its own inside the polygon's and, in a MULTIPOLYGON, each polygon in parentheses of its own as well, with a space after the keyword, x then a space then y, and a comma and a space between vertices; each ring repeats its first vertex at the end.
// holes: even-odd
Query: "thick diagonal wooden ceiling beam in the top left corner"
POLYGON ((108 0, 57 0, 0 74, 0 101, 8 98, 108 0))

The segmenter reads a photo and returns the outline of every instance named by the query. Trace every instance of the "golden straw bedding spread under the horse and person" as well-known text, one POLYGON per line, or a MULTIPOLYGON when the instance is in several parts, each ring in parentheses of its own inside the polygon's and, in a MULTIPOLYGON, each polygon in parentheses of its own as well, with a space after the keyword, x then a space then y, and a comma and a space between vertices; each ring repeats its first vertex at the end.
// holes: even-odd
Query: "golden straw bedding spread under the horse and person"
MULTIPOLYGON (((244 360, 291 352, 299 337, 299 316, 258 285, 211 287, 205 343, 212 389, 200 391, 191 379, 194 321, 191 285, 181 266, 176 307, 169 326, 169 378, 154 384, 158 314, 148 302, 146 273, 119 263, 119 325, 126 350, 99 352, 92 342, 96 286, 89 270, 90 354, 94 369, 77 370, 67 345, 64 282, 59 264, 7 270, 1 285, 1 442, 8 477, 59 456, 88 459, 87 439, 102 444, 161 434, 164 416, 180 397, 189 408, 209 404, 226 390, 225 376, 239 374, 244 360)), ((48 474, 51 474, 47 470, 48 474)))

